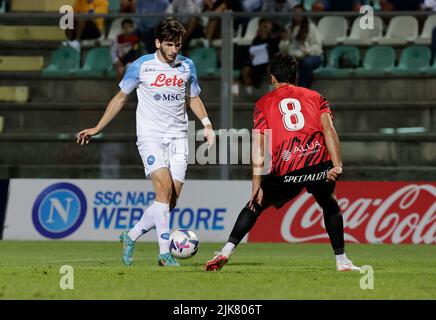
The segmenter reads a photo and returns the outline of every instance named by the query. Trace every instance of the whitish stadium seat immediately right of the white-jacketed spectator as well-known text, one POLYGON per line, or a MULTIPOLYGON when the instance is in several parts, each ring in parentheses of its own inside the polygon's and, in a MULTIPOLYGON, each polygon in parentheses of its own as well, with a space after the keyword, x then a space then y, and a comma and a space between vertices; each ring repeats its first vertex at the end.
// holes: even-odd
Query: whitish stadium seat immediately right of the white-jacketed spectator
POLYGON ((322 17, 318 22, 318 30, 324 45, 336 45, 338 39, 347 36, 348 21, 339 16, 322 17))

